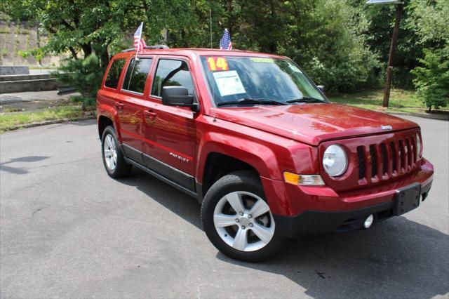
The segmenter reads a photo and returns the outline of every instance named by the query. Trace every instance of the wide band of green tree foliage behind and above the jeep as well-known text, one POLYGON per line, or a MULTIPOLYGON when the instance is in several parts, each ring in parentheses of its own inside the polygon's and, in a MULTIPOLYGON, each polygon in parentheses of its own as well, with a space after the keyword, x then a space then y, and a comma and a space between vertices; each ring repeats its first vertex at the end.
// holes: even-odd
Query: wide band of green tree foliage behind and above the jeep
MULTIPOLYGON (((447 54, 449 1, 404 3, 394 85, 412 87, 424 78, 412 69, 447 54)), ((147 44, 160 44, 166 32, 170 47, 209 48, 212 32, 217 48, 227 28, 234 48, 287 55, 329 91, 382 86, 394 26, 394 6, 365 0, 2 0, 0 11, 39 21, 48 43, 34 55, 70 53, 76 60, 95 53, 102 69, 132 46, 140 22, 147 44)))

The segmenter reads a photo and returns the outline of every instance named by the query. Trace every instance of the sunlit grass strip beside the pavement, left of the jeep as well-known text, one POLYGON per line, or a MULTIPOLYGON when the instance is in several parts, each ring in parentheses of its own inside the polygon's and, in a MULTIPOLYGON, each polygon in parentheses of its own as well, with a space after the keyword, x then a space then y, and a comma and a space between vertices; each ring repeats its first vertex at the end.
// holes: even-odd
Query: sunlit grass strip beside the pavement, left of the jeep
POLYGON ((39 112, 2 113, 0 114, 0 133, 10 131, 20 125, 59 119, 75 119, 83 115, 84 112, 79 106, 46 108, 39 112))

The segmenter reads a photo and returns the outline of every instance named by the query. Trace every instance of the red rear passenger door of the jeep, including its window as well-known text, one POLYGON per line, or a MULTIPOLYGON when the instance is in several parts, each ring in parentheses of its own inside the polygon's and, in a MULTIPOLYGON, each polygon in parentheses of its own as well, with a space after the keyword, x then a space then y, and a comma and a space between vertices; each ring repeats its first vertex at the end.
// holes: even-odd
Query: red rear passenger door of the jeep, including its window
POLYGON ((123 79, 120 94, 116 102, 119 114, 120 133, 123 141, 123 151, 126 157, 143 164, 142 159, 142 107, 145 93, 145 84, 152 58, 133 57, 128 61, 126 74, 123 79))

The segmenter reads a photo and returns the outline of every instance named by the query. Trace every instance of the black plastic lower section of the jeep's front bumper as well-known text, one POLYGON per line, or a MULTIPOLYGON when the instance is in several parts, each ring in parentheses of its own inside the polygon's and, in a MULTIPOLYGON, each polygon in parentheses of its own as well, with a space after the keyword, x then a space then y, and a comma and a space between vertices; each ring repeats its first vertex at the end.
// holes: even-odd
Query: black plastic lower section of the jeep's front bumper
MULTIPOLYGON (((430 187, 431 182, 421 188, 421 201, 426 199, 430 187)), ((295 216, 273 216, 276 230, 285 237, 295 239, 304 233, 359 230, 363 227, 363 221, 371 214, 374 215, 374 222, 394 216, 394 201, 351 211, 305 211, 295 216)))

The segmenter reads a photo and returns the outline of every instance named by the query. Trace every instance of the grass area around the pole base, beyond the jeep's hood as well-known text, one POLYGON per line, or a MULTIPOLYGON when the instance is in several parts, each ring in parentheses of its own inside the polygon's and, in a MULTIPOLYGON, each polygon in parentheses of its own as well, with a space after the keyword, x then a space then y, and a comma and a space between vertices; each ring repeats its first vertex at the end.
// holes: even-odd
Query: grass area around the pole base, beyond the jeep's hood
MULTIPOLYGON (((351 105, 359 108, 396 111, 396 112, 418 112, 425 113, 428 109, 421 100, 415 98, 413 91, 403 89, 392 89, 390 93, 389 107, 382 107, 384 91, 361 91, 358 93, 338 93, 328 95, 331 102, 351 105)), ((441 108, 448 110, 448 107, 441 108)))

